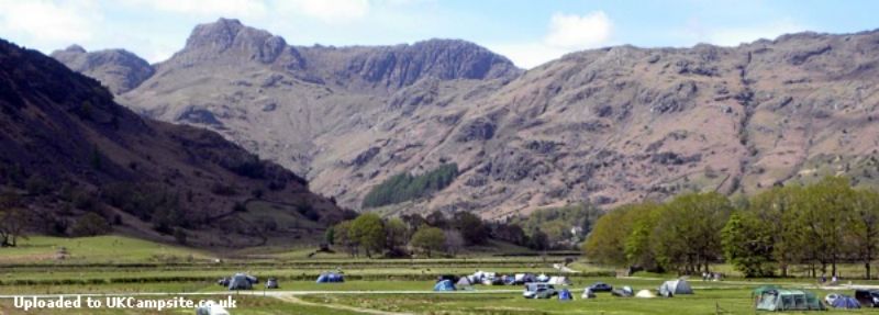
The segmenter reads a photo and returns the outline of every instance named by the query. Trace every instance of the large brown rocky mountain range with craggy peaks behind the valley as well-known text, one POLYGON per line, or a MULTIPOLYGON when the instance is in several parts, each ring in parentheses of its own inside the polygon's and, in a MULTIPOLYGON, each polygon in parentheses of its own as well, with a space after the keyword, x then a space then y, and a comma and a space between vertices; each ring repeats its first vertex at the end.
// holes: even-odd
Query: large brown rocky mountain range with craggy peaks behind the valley
POLYGON ((876 31, 616 46, 527 71, 460 41, 278 43, 234 20, 200 25, 119 97, 148 116, 218 131, 351 207, 396 175, 427 179, 457 166, 448 187, 388 213, 504 217, 690 190, 749 194, 825 175, 876 184, 879 176, 876 31))

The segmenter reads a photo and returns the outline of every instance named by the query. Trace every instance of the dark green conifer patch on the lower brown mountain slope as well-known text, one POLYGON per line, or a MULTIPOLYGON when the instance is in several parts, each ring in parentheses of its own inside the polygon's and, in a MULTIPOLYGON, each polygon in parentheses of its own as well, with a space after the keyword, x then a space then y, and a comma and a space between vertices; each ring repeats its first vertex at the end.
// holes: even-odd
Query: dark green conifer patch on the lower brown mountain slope
POLYGON ((457 177, 457 164, 444 164, 419 176, 399 173, 374 187, 364 198, 363 206, 377 207, 427 196, 448 187, 457 177))

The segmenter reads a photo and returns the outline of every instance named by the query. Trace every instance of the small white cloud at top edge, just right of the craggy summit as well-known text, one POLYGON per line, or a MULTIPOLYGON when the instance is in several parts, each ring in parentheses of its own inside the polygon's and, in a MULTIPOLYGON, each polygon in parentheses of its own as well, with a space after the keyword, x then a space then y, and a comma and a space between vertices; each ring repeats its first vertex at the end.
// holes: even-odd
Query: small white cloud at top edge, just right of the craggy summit
POLYGON ((345 23, 369 13, 369 0, 286 0, 278 1, 282 12, 305 15, 325 23, 345 23))

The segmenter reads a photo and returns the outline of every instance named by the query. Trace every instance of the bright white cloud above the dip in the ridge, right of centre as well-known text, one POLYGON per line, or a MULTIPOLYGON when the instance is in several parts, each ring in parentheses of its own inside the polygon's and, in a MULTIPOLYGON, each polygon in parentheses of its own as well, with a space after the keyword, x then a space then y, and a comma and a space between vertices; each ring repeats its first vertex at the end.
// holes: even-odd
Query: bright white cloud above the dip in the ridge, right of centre
POLYGON ((555 13, 542 41, 489 44, 488 47, 516 66, 530 69, 567 53, 607 45, 612 33, 613 22, 602 11, 583 15, 555 13))

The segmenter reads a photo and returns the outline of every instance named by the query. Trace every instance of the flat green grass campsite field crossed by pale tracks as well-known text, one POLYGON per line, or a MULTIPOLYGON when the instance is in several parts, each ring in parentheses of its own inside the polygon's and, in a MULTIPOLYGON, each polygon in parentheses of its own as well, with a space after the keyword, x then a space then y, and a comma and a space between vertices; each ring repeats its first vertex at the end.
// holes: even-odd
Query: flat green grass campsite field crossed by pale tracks
MULTIPOLYGON (((227 252, 218 262, 215 254, 154 244, 122 236, 92 238, 33 237, 19 248, 0 249, 0 295, 33 294, 163 294, 191 300, 222 300, 230 292, 215 284, 218 278, 247 271, 266 279, 280 279, 277 291, 232 293, 238 307, 232 314, 753 314, 750 290, 774 283, 804 288, 823 297, 827 293, 852 294, 852 290, 827 291, 810 279, 728 278, 720 282, 691 281, 696 294, 674 299, 619 299, 599 293, 580 300, 582 289, 596 281, 635 290, 655 290, 668 274, 636 274, 619 279, 608 268, 575 262, 578 273, 566 273, 575 301, 525 300, 521 286, 477 285, 474 291, 432 292, 438 274, 469 274, 476 270, 500 273, 558 274, 554 263, 561 256, 496 257, 465 255, 453 259, 351 259, 338 254, 309 258, 305 248, 248 249, 227 252), (64 246, 69 256, 57 260, 64 246), (322 271, 342 270, 346 282, 318 284, 322 271)), ((856 267, 845 270, 857 272, 856 267)), ((719 266, 719 270, 728 267, 719 266)), ((845 281, 844 281, 845 282, 845 281)), ((877 281, 857 284, 879 285, 877 281)), ((138 299, 157 299, 147 295, 138 299)), ((11 299, 0 299, 0 314, 193 314, 192 310, 37 310, 23 312, 11 299)), ((824 314, 872 313, 831 311, 824 314)))

